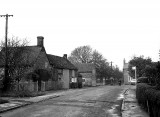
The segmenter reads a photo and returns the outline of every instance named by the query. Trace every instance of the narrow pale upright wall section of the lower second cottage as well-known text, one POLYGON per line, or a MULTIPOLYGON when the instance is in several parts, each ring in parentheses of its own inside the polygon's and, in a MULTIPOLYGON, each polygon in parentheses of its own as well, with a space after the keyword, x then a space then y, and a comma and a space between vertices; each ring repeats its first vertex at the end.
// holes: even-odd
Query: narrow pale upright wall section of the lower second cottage
POLYGON ((62 76, 62 82, 63 82, 63 89, 69 89, 69 70, 63 69, 63 76, 62 76))

